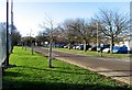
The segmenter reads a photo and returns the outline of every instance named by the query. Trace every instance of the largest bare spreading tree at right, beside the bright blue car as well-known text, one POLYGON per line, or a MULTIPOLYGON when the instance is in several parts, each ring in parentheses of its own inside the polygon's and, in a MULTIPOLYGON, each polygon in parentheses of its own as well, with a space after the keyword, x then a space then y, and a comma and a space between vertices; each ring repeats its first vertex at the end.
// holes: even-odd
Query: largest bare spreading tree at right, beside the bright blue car
POLYGON ((101 25, 101 32, 110 38, 110 53, 112 53, 114 38, 128 30, 129 20, 125 14, 119 11, 100 10, 97 21, 101 25))

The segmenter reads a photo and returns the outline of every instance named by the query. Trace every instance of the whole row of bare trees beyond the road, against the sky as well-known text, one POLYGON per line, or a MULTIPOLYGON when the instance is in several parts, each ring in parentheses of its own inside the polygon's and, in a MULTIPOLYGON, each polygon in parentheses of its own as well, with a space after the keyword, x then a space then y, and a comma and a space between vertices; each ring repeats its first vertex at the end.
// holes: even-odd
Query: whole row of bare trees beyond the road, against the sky
MULTIPOLYGON (((111 53, 114 41, 128 32, 129 19, 128 14, 119 11, 100 10, 100 12, 92 19, 68 19, 59 25, 55 25, 51 19, 45 19, 41 27, 44 29, 42 35, 50 36, 50 40, 55 37, 63 37, 64 41, 68 40, 69 43, 96 43, 97 29, 98 38, 100 43, 110 41, 111 53)), ((86 50, 86 48, 84 48, 86 50)))

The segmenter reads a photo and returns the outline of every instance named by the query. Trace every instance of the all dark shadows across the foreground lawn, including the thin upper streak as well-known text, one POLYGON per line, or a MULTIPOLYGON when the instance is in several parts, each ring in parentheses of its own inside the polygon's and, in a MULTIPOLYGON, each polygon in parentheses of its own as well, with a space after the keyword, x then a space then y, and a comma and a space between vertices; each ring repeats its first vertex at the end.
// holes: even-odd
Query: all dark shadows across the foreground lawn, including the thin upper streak
MULTIPOLYGON (((46 71, 58 71, 53 69, 40 69, 34 67, 26 67, 26 66, 16 66, 16 67, 24 67, 24 68, 32 68, 36 70, 46 70, 46 71)), ((66 74, 75 74, 78 72, 70 72, 70 71, 58 71, 58 72, 66 72, 66 74)), ((84 74, 79 74, 84 75, 84 74)), ((28 77, 28 75, 14 71, 6 71, 4 76, 8 78, 3 78, 3 89, 2 90, 130 90, 128 86, 110 86, 110 85, 102 85, 102 83, 94 83, 89 82, 87 85, 79 85, 79 83, 70 83, 64 81, 47 81, 47 80, 14 80, 13 77, 28 77)), ((30 76, 30 75, 29 75, 30 76)))

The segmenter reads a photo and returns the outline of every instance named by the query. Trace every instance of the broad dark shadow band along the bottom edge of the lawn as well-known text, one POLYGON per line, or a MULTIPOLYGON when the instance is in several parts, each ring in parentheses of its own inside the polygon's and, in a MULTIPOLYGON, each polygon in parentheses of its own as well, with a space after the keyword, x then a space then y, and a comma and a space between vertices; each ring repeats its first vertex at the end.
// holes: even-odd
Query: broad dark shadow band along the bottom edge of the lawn
POLYGON ((76 85, 45 81, 12 81, 6 80, 2 90, 130 90, 127 87, 110 87, 102 85, 76 85))

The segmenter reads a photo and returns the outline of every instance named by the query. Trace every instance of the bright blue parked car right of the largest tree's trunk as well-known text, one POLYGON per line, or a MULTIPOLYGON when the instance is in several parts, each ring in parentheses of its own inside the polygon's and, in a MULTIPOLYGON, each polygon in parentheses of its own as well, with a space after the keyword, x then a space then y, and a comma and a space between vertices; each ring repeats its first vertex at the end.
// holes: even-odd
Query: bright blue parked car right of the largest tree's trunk
POLYGON ((127 54, 128 53, 128 47, 125 45, 123 46, 113 46, 113 53, 122 53, 127 54))

